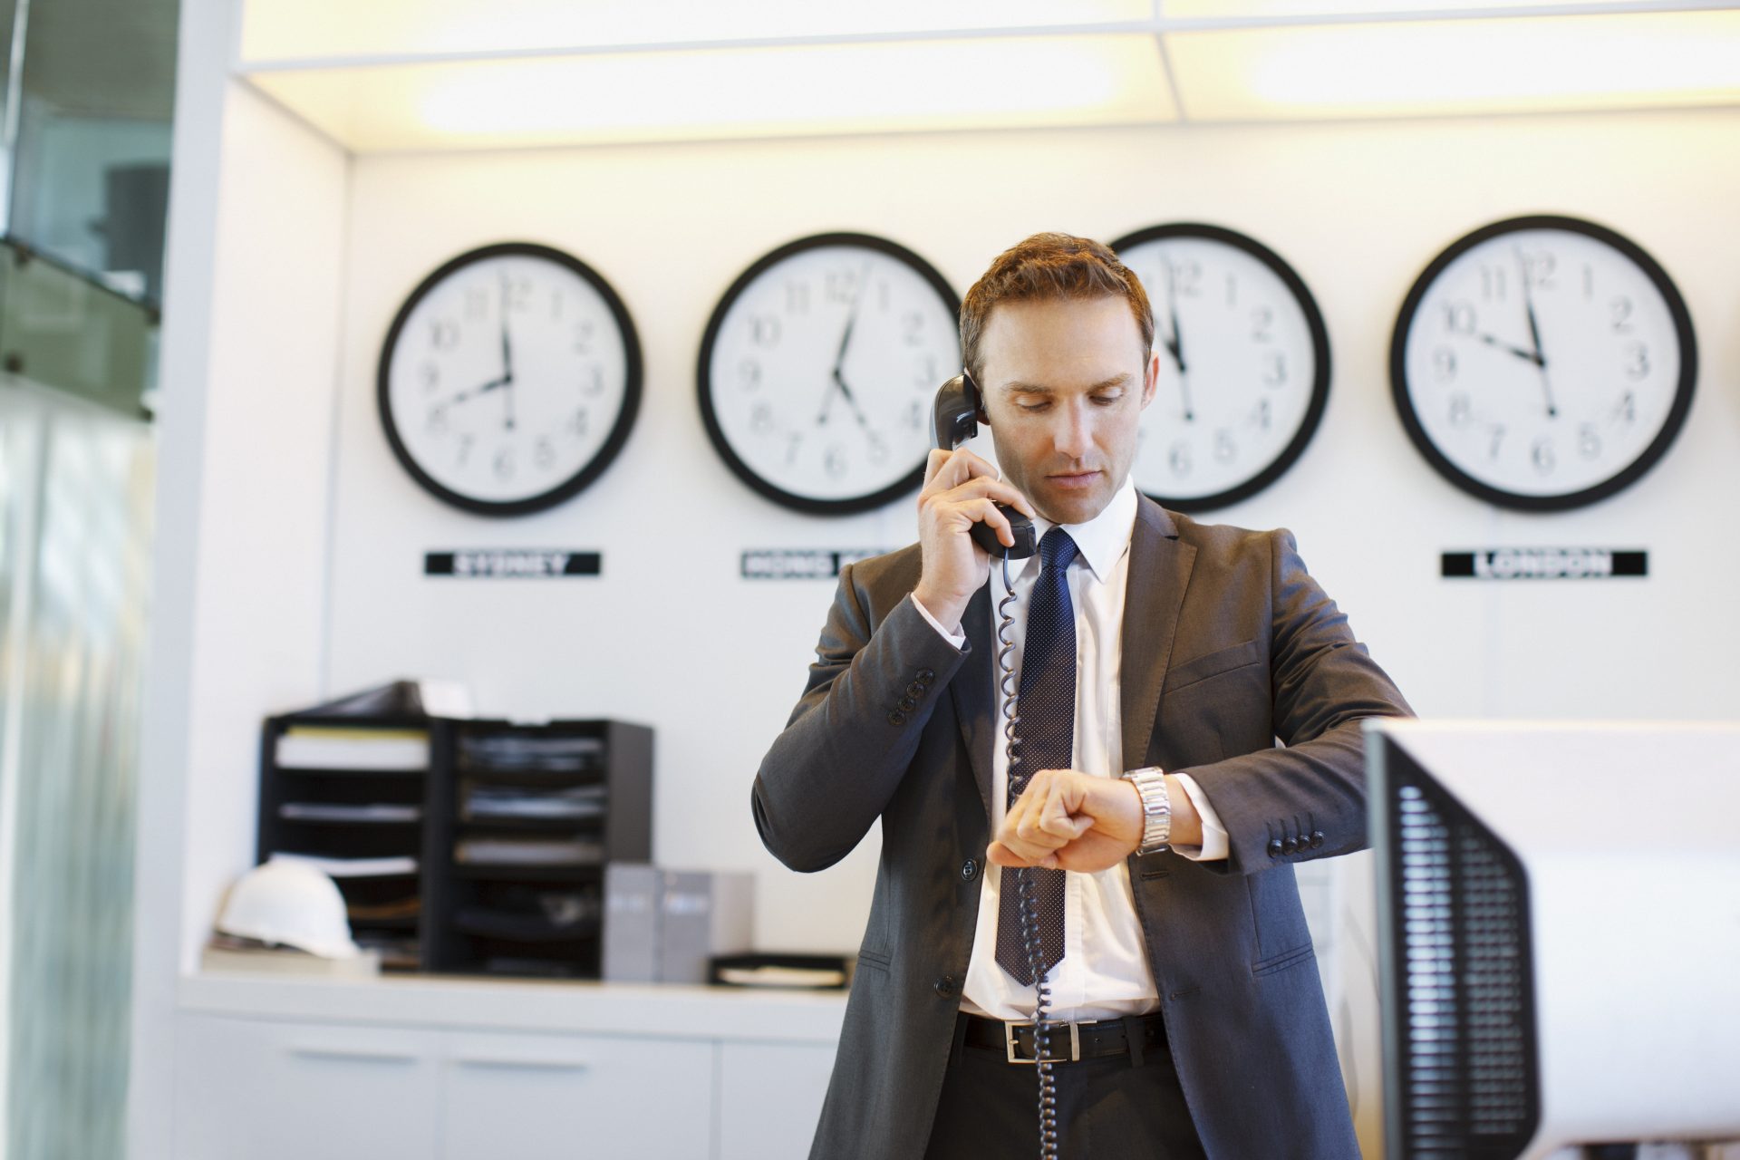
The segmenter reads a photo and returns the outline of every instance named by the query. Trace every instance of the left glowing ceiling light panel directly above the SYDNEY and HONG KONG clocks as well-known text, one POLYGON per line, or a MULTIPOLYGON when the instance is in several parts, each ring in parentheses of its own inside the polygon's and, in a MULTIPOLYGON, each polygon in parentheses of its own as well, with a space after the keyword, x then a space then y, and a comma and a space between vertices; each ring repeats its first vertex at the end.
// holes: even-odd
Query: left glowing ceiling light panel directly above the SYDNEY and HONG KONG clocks
POLYGON ((263 70, 249 80, 358 153, 1174 118, 1147 35, 263 70))

